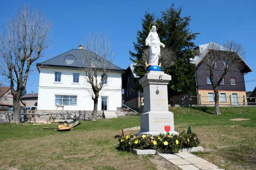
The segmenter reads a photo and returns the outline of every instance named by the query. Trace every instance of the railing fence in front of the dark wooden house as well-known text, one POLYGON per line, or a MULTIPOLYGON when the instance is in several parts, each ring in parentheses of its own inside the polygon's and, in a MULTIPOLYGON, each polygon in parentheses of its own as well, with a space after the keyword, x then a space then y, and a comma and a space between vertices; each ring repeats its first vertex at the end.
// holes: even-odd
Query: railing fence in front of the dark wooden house
MULTIPOLYGON (((171 106, 214 105, 213 96, 173 96, 169 100, 171 106)), ((219 105, 256 105, 256 97, 219 96, 219 105)))

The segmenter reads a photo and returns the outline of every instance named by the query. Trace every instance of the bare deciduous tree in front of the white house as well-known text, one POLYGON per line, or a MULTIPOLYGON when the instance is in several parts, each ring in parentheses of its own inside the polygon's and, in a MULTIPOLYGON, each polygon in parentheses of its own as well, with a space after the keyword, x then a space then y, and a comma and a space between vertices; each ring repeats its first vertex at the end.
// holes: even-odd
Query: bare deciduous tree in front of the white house
POLYGON ((83 53, 83 67, 87 84, 90 84, 88 92, 93 99, 93 117, 96 121, 99 92, 102 90, 105 78, 112 69, 113 51, 108 36, 103 34, 91 34, 86 42, 86 50, 83 53))

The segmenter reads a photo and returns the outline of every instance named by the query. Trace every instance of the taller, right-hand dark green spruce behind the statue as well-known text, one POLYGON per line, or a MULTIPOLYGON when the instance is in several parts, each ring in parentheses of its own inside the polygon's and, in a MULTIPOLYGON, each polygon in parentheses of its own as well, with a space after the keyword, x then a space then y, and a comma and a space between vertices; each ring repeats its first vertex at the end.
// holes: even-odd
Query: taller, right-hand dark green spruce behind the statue
POLYGON ((172 75, 169 92, 175 94, 195 94, 195 64, 191 60, 195 44, 193 40, 199 33, 192 33, 189 29, 190 17, 181 17, 182 8, 175 9, 174 5, 162 11, 160 20, 165 28, 162 42, 171 48, 175 54, 174 64, 170 66, 167 74, 172 75))

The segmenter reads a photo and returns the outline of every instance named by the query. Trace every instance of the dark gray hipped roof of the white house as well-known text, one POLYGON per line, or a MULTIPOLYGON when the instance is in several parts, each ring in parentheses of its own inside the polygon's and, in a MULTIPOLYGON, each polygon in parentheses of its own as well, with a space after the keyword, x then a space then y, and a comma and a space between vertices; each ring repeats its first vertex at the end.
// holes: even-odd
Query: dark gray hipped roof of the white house
MULTIPOLYGON (((55 66, 55 67, 69 67, 69 68, 81 68, 86 67, 87 63, 84 63, 83 56, 86 52, 89 52, 92 56, 97 56, 91 51, 87 50, 80 50, 80 49, 72 49, 67 51, 63 54, 60 54, 56 57, 48 59, 44 62, 37 63, 37 66, 47 65, 47 66, 55 66), (74 57, 75 61, 66 61, 67 57, 74 57)), ((99 59, 98 61, 103 61, 102 57, 97 56, 99 59)), ((108 61, 107 61, 108 62, 108 61)), ((108 69, 113 71, 124 71, 124 69, 119 68, 118 66, 114 65, 111 62, 108 62, 108 69)), ((99 64, 100 65, 100 64, 99 64)))

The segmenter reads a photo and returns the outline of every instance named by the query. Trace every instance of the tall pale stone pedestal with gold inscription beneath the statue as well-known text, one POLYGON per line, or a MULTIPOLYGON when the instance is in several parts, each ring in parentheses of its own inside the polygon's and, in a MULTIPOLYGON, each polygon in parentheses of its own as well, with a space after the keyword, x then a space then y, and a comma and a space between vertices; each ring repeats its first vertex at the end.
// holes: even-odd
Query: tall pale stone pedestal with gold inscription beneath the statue
POLYGON ((140 132, 137 135, 166 133, 165 126, 174 130, 173 113, 168 108, 167 85, 172 77, 163 71, 149 71, 140 79, 144 95, 144 113, 140 115, 140 132))

